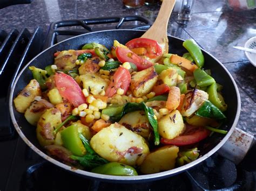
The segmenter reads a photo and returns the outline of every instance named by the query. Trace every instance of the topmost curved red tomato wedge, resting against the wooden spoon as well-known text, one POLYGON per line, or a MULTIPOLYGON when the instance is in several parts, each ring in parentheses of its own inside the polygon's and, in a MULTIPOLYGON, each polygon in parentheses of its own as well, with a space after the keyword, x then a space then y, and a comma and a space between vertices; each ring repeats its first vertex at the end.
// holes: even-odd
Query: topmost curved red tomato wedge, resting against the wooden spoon
POLYGON ((157 43, 156 40, 148 39, 148 38, 136 38, 130 40, 125 44, 128 48, 146 48, 147 53, 145 54, 149 58, 156 58, 157 56, 162 54, 161 46, 157 43))

